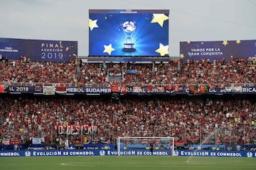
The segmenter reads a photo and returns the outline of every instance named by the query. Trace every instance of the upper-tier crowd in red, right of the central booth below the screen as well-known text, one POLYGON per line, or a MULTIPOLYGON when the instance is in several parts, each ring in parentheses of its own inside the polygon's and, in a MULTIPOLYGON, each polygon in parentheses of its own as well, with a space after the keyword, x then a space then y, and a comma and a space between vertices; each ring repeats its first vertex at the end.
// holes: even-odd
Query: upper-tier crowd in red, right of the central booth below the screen
POLYGON ((124 84, 255 84, 255 59, 189 60, 155 64, 134 64, 137 74, 129 74, 124 84))

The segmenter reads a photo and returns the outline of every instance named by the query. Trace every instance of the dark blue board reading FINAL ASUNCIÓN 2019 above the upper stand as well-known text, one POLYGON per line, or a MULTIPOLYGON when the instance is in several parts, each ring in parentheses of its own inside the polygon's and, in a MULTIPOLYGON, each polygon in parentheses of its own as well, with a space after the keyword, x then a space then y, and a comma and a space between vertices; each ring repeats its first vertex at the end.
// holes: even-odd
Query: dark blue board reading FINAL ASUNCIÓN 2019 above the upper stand
POLYGON ((0 38, 0 55, 9 60, 26 56, 38 62, 68 62, 78 57, 78 41, 0 38))

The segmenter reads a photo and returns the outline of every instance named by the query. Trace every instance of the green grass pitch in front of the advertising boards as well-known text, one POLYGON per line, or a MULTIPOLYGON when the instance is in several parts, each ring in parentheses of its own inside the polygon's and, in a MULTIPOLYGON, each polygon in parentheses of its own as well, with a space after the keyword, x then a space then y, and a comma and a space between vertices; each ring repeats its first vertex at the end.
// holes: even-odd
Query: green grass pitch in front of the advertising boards
POLYGON ((238 157, 1 157, 1 170, 220 170, 256 169, 255 158, 238 157))

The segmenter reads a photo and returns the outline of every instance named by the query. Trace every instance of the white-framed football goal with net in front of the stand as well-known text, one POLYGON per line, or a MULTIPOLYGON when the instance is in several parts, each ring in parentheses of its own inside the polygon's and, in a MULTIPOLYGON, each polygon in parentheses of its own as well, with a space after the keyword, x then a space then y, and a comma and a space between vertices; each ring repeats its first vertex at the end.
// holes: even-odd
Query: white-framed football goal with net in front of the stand
POLYGON ((122 155, 125 151, 174 156, 174 137, 118 137, 117 154, 122 155))

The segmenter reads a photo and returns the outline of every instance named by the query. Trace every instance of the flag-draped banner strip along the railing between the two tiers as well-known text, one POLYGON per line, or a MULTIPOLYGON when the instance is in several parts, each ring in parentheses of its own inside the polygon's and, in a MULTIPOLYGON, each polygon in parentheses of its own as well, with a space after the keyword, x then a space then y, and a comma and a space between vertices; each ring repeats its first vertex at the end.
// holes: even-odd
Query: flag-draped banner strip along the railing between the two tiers
POLYGON ((209 85, 198 84, 191 86, 119 86, 112 84, 110 87, 100 86, 22 86, 13 85, 8 86, 6 91, 10 94, 86 94, 86 95, 101 95, 121 93, 121 94, 187 94, 187 95, 201 95, 201 94, 256 94, 256 86, 233 86, 231 85, 209 85))

